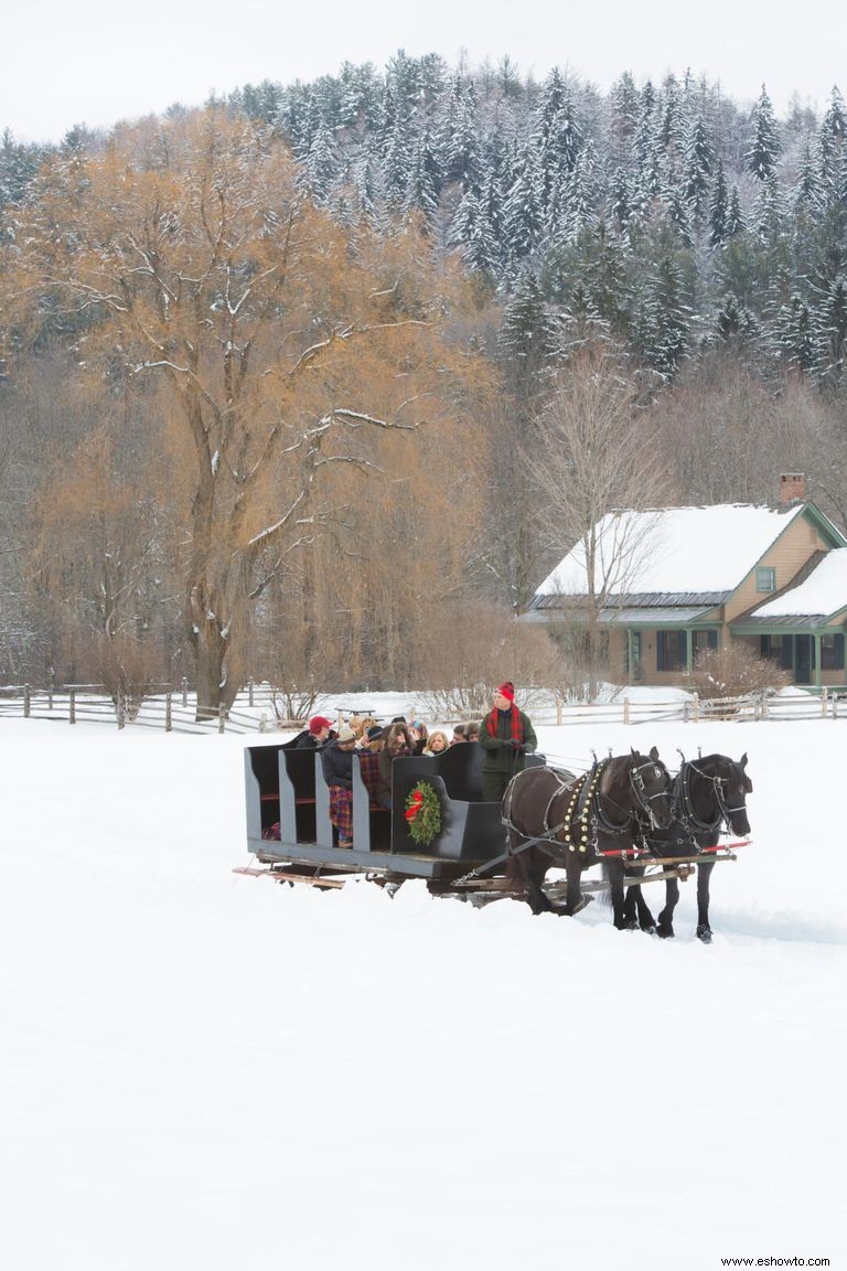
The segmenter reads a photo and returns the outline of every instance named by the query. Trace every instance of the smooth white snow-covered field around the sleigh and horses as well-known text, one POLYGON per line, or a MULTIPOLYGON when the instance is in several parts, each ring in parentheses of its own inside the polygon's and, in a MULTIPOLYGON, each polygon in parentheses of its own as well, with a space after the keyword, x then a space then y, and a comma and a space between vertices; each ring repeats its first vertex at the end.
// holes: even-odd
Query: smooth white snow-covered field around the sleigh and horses
POLYGON ((540 736, 748 751, 710 948, 234 876, 272 738, 0 721, 0 1267, 847 1266, 847 726, 540 736))

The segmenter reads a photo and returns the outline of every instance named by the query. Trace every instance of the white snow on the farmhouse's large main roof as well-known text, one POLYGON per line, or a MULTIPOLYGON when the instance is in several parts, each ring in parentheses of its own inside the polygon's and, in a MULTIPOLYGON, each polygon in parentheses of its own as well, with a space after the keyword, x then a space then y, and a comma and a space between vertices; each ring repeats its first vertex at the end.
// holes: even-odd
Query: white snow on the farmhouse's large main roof
MULTIPOLYGON (((734 591, 801 510, 726 503, 610 512, 598 522, 596 587, 611 571, 612 594, 734 591)), ((541 596, 559 594, 585 594, 582 544, 538 587, 541 596)))

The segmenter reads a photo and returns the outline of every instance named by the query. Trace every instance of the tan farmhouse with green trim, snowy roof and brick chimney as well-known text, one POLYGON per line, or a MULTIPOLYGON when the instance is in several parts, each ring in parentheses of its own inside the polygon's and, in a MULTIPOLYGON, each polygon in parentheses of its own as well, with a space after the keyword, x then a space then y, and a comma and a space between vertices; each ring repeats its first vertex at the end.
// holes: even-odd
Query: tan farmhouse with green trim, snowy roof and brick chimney
POLYGON ((544 580, 524 620, 564 636, 592 614, 610 676, 627 684, 676 684, 700 649, 734 641, 795 684, 843 684, 847 539, 796 474, 780 478, 776 508, 611 512, 544 580))

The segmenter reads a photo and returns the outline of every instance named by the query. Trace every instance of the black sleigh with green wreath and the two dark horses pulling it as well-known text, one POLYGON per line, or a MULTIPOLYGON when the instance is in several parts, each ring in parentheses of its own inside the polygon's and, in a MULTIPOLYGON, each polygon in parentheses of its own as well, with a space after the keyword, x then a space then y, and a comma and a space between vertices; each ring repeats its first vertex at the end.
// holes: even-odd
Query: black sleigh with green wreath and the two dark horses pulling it
POLYGON ((735 859, 735 844, 720 846, 721 830, 749 834, 747 756, 683 760, 672 777, 655 749, 631 751, 577 777, 528 755, 500 805, 483 802, 481 750, 465 744, 396 759, 391 808, 373 802, 354 759, 352 848, 338 846, 319 754, 251 746, 244 761, 248 849, 258 866, 237 872, 321 888, 356 873, 391 887, 420 878, 437 895, 475 904, 513 896, 533 913, 570 915, 607 890, 616 927, 673 935, 679 881, 696 869, 697 935, 709 942, 710 876, 716 862, 735 859), (429 841, 409 815, 422 792, 437 807, 429 841), (598 864, 604 877, 583 881, 598 864), (564 882, 545 881, 551 868, 564 869, 564 882), (641 888, 658 881, 667 899, 657 923, 641 888))

